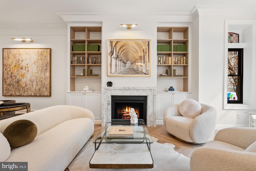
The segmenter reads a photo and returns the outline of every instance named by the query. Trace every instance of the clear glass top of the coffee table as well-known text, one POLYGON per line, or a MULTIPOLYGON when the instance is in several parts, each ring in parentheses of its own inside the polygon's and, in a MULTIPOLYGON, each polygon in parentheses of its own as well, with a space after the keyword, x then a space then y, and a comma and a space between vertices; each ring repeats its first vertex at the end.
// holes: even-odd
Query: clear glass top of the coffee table
POLYGON ((136 124, 130 123, 130 119, 115 119, 102 127, 93 143, 153 143, 153 140, 143 119, 136 124))

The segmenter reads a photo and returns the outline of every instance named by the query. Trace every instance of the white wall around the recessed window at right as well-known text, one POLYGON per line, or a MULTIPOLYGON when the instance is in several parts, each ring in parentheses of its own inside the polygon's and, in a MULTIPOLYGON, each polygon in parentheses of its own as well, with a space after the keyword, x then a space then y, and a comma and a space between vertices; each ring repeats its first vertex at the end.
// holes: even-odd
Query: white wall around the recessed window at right
MULTIPOLYGON (((247 110, 224 109, 225 20, 252 20, 255 15, 209 14, 199 15, 199 93, 200 103, 217 109, 217 127, 248 126, 247 110), (240 114, 240 119, 238 119, 240 114)), ((255 28, 254 28, 255 33, 255 28)), ((254 34, 255 36, 255 34, 254 34)), ((255 46, 254 46, 255 52, 255 46)), ((255 53, 253 54, 255 59, 255 53)), ((245 85, 251 86, 251 85, 245 85)), ((245 87, 244 87, 245 88, 245 87)))

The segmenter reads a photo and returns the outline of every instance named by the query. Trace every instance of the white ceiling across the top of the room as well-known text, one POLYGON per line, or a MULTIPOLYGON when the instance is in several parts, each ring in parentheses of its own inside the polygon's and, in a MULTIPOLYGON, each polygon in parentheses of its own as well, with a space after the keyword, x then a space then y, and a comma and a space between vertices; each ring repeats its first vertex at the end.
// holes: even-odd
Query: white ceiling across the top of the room
POLYGON ((64 23, 56 13, 189 13, 195 5, 256 6, 255 0, 0 0, 1 24, 64 23))

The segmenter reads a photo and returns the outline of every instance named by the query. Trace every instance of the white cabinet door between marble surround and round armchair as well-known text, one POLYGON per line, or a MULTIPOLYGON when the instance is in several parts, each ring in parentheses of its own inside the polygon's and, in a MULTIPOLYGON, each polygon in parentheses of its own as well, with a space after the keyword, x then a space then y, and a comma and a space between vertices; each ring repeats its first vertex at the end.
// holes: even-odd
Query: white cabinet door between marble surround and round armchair
POLYGON ((172 105, 171 93, 157 93, 157 119, 164 119, 164 111, 172 105))

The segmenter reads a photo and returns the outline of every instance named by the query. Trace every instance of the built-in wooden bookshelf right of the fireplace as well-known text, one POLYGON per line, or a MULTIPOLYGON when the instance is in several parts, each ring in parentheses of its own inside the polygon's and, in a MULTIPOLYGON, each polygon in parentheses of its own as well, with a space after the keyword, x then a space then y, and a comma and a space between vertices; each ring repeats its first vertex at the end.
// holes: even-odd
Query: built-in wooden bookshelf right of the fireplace
POLYGON ((188 91, 188 27, 157 28, 156 60, 159 82, 178 79, 183 84, 179 91, 188 91))

